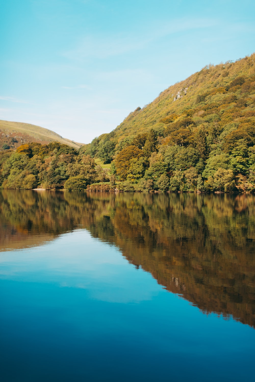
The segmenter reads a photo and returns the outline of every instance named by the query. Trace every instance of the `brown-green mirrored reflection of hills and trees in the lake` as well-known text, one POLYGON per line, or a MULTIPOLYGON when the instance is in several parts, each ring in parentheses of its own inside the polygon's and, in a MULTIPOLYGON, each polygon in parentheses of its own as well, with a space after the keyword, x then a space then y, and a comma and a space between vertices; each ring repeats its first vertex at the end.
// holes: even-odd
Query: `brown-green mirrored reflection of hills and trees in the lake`
POLYGON ((86 228, 202 311, 255 326, 253 195, 2 190, 0 214, 2 251, 86 228))

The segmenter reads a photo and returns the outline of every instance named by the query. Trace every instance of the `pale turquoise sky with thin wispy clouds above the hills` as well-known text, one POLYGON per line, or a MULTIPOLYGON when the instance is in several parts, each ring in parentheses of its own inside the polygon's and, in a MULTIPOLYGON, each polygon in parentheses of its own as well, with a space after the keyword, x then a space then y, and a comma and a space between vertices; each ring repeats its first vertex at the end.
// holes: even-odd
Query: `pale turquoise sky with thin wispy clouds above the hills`
POLYGON ((0 0, 0 119, 88 143, 203 66, 255 51, 255 2, 0 0))

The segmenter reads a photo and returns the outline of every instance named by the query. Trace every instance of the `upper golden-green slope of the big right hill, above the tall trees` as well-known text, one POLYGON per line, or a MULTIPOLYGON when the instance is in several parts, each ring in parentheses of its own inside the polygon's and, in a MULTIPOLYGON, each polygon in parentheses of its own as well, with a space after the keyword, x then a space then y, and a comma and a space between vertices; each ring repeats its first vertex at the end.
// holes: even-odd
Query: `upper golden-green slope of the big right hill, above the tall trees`
POLYGON ((234 63, 208 65, 168 87, 153 102, 130 113, 113 130, 114 136, 119 142, 150 128, 167 129, 186 116, 193 116, 196 123, 207 123, 206 116, 212 113, 219 114, 221 125, 225 125, 239 118, 254 117, 255 113, 247 113, 254 112, 254 100, 255 54, 252 54, 234 63))

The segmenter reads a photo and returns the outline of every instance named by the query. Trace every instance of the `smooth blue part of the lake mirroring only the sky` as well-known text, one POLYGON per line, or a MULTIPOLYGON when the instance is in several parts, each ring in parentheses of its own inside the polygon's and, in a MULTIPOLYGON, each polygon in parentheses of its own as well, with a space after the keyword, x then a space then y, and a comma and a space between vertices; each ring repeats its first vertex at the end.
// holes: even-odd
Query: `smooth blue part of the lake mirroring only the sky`
POLYGON ((77 228, 0 253, 0 380, 253 380, 255 330, 77 228))

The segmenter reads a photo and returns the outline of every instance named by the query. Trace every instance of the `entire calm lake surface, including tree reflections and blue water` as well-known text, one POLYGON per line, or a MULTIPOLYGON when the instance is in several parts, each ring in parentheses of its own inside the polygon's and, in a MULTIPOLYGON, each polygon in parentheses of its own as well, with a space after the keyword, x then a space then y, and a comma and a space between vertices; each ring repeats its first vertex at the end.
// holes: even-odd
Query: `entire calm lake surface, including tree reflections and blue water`
POLYGON ((255 197, 0 191, 0 380, 253 380, 255 197))

